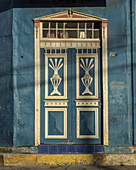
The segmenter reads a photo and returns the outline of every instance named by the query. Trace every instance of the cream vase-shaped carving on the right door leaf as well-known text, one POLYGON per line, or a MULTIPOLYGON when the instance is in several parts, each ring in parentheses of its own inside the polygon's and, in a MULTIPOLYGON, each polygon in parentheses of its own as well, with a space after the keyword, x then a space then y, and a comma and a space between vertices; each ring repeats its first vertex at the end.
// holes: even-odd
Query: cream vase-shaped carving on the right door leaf
POLYGON ((80 64, 80 67, 82 67, 82 69, 84 69, 85 71, 85 75, 81 78, 82 83, 85 86, 85 90, 82 93, 82 95, 84 94, 92 95, 93 93, 89 90, 89 87, 93 81, 93 77, 90 76, 89 71, 94 67, 94 64, 92 64, 93 59, 90 60, 89 64, 88 64, 88 58, 86 58, 85 61, 86 61, 86 64, 84 62, 84 59, 81 58, 82 64, 80 64))

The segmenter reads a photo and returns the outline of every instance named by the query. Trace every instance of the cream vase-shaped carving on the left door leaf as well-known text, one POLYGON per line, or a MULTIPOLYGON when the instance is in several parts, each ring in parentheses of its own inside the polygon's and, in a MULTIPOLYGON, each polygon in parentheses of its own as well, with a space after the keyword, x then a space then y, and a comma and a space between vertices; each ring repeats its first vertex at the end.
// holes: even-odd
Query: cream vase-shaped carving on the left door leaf
POLYGON ((51 64, 49 64, 49 67, 54 70, 53 77, 50 78, 54 90, 53 90, 53 92, 51 92, 50 95, 51 96, 54 94, 61 95, 61 93, 58 91, 58 87, 61 83, 62 78, 60 78, 60 76, 58 74, 58 70, 63 66, 63 63, 61 63, 62 59, 59 59, 59 62, 58 62, 58 59, 55 58, 55 64, 52 59, 50 59, 50 62, 51 62, 51 64), (57 62, 58 62, 58 64, 57 64, 57 62))

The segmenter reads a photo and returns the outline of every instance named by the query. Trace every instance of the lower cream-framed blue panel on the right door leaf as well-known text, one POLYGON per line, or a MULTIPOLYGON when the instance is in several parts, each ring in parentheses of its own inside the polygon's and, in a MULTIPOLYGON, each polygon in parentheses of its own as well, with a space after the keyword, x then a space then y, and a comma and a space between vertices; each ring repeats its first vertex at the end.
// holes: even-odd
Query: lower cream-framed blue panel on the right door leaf
POLYGON ((98 138, 98 108, 77 108, 77 138, 98 138))

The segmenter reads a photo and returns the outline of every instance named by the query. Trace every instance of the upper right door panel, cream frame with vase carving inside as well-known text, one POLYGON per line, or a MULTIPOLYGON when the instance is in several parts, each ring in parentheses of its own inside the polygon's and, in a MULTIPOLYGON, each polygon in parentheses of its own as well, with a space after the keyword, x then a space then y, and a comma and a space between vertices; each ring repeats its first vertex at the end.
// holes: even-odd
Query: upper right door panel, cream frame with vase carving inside
POLYGON ((98 98, 98 54, 77 54, 76 98, 98 98))

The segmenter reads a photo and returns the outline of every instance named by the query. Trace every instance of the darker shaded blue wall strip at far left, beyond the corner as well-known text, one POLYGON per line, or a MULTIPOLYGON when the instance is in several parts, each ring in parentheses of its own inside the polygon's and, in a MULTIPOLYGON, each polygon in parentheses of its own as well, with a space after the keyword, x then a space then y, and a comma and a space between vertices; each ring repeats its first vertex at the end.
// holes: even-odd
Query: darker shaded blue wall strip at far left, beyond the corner
POLYGON ((13 143, 12 14, 0 13, 0 146, 13 143))

